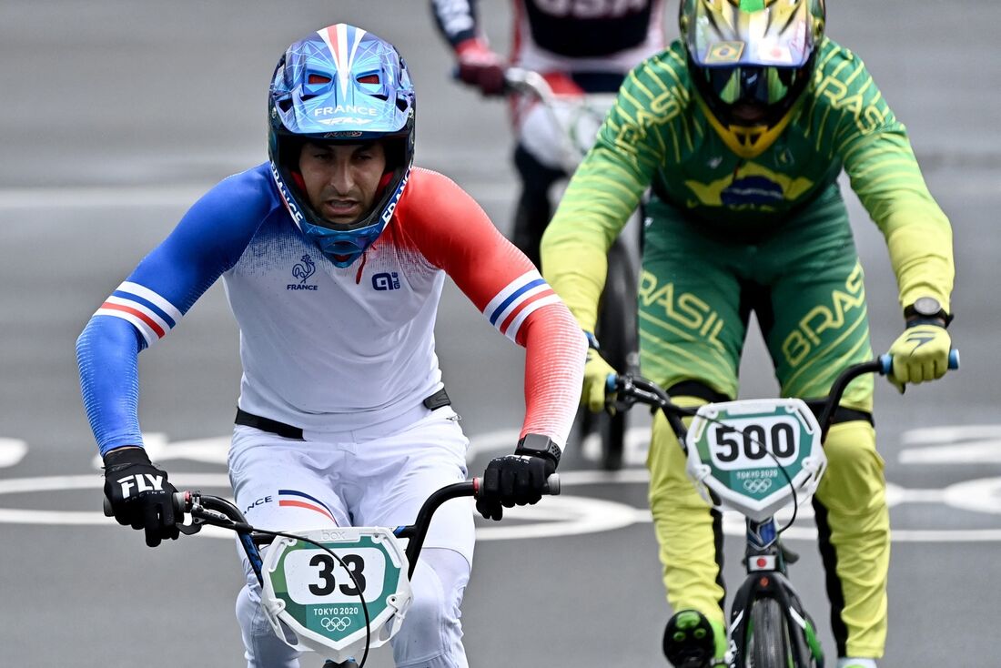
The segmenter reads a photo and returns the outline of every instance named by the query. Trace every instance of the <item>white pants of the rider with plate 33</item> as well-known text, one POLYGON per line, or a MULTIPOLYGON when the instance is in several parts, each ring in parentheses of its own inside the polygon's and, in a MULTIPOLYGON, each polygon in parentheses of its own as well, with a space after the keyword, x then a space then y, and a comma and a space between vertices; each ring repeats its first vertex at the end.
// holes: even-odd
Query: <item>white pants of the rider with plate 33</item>
MULTIPOLYGON (((307 432, 305 441, 237 427, 229 451, 236 505, 261 529, 412 524, 434 490, 466 478, 468 441, 454 412, 445 407, 423 414, 409 425, 395 421, 350 433, 307 432), (290 491, 305 503, 279 506, 279 490, 284 498, 290 491)), ((459 605, 473 539, 467 501, 448 501, 435 512, 410 582, 413 603, 391 641, 398 668, 465 668, 459 605)), ((236 617, 247 666, 296 668, 299 653, 264 619, 256 576, 245 557, 243 562, 247 584, 237 598, 236 617)))

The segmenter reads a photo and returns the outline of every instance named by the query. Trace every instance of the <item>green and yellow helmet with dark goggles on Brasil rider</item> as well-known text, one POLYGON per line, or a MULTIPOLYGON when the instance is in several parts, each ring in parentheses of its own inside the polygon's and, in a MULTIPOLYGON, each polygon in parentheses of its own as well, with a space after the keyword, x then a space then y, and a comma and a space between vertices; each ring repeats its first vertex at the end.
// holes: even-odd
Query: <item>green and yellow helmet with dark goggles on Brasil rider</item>
POLYGON ((789 124, 824 18, 824 0, 682 0, 696 98, 738 155, 760 155, 789 124))

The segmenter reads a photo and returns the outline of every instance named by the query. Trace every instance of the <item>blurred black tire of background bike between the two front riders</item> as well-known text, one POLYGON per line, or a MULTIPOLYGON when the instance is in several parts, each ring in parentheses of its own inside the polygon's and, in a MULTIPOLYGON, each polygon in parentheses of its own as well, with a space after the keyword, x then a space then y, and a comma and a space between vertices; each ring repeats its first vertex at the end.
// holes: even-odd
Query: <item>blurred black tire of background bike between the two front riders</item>
MULTIPOLYGON (((609 250, 609 272, 595 335, 602 345, 602 357, 622 374, 637 371, 636 290, 633 260, 623 242, 617 241, 609 250)), ((608 471, 618 471, 623 465, 628 428, 626 415, 603 415, 597 422, 602 441, 602 466, 608 471)))

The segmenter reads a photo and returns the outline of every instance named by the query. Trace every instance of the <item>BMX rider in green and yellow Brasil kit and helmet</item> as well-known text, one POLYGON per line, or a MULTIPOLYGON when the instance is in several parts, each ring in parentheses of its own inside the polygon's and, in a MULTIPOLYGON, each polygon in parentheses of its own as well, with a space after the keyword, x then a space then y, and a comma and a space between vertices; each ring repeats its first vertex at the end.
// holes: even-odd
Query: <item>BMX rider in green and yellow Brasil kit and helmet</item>
MULTIPOLYGON (((952 231, 904 126, 862 61, 825 36, 823 0, 682 0, 681 39, 624 82, 596 145, 543 240, 546 278, 593 331, 606 253, 650 187, 639 284, 641 372, 678 404, 737 397, 748 318, 757 315, 783 396, 827 395, 873 357, 862 266, 837 177, 883 232, 904 331, 891 381, 948 365, 952 231)), ((589 356, 584 401, 602 410, 614 373, 589 356)), ((873 381, 853 382, 826 444, 814 501, 839 668, 873 668, 887 629, 890 523, 873 429, 873 381)), ((727 651, 721 520, 685 476, 662 416, 650 504, 676 611, 676 666, 727 651)))

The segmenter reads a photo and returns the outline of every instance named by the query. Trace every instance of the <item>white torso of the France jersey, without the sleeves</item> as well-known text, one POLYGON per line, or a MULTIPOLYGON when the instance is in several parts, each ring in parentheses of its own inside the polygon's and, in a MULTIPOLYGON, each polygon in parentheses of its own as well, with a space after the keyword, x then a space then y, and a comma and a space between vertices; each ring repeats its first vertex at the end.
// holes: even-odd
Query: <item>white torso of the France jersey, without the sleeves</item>
POLYGON ((434 315, 444 272, 386 243, 366 253, 363 271, 337 268, 287 232, 280 242, 258 233, 222 275, 240 327, 240 408, 341 432, 439 390, 434 315))

